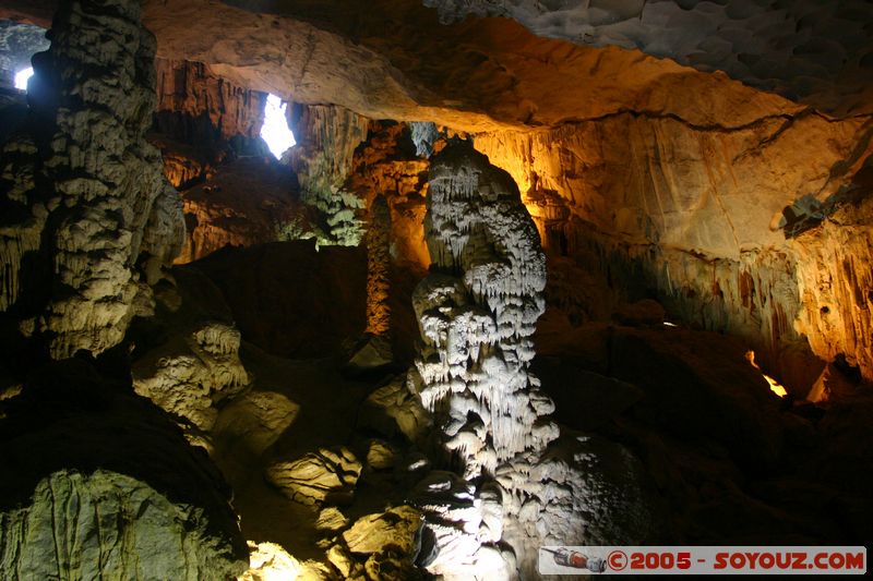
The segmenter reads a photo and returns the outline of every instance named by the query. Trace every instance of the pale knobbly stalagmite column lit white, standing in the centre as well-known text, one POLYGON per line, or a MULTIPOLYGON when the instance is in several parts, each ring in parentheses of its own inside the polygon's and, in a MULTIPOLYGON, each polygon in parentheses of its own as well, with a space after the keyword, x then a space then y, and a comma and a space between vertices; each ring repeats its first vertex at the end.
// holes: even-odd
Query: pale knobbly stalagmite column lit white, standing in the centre
POLYGON ((540 421, 553 406, 527 373, 546 258, 509 174, 468 144, 432 160, 426 232, 435 269, 412 298, 419 394, 467 476, 493 474, 558 435, 540 421))

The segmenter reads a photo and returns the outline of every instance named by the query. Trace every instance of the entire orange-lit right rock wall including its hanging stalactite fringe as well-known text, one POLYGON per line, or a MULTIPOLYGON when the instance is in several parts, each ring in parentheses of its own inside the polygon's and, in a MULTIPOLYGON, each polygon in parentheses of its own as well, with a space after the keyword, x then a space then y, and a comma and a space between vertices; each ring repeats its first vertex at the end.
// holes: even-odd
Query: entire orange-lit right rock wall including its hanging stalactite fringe
POLYGON ((733 128, 621 113, 481 134, 476 147, 527 193, 552 253, 642 276, 684 320, 745 337, 808 387, 806 340, 873 377, 870 211, 848 205, 788 240, 779 225, 801 198, 826 204, 852 187, 870 126, 813 112, 733 128))

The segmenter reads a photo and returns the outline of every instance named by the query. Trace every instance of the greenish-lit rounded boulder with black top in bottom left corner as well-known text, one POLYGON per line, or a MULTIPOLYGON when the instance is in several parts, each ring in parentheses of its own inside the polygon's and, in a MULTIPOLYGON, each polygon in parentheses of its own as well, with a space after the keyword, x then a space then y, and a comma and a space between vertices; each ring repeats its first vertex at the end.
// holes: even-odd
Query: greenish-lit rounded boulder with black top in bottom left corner
POLYGON ((0 420, 0 577, 227 579, 248 552, 230 491, 129 379, 44 365, 0 420))

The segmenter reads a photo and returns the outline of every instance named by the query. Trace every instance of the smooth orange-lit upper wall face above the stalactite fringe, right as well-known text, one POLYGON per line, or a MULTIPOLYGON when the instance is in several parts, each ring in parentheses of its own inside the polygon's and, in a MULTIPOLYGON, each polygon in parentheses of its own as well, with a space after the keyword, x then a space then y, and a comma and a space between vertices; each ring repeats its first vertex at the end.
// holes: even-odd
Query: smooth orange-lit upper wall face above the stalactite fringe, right
POLYGON ((848 185, 873 152, 870 137, 866 118, 806 112, 709 126, 623 113, 479 135, 476 148, 523 193, 558 195, 539 221, 579 218, 632 244, 737 259, 785 241, 786 207, 808 195, 824 204, 848 185))

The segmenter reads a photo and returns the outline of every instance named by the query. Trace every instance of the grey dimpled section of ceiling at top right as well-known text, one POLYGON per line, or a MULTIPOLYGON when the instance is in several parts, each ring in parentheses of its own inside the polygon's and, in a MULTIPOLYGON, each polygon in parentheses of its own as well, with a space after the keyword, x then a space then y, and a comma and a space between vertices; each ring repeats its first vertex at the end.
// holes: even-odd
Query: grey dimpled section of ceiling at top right
POLYGON ((443 23, 507 16, 538 36, 636 48, 840 114, 873 109, 870 0, 423 0, 443 23))

